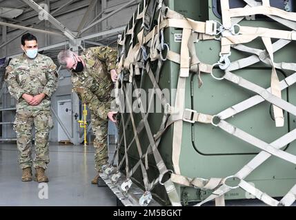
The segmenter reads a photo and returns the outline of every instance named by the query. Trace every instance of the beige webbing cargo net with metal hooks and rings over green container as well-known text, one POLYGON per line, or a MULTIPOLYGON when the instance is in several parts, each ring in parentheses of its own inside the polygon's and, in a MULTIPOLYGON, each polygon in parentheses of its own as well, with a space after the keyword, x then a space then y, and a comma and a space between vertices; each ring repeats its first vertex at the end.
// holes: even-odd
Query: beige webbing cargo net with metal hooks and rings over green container
MULTIPOLYGON (((146 189, 146 192, 139 200, 141 206, 147 206, 151 201, 152 196, 150 191, 157 184, 165 186, 172 206, 181 206, 181 201, 175 188, 175 184, 213 191, 209 197, 204 199, 204 201, 197 203, 196 206, 201 206, 202 204, 211 200, 215 200, 217 206, 224 206, 224 195, 226 192, 229 192, 235 188, 242 188, 243 190, 246 190, 246 192, 250 193, 250 195, 255 196, 257 199, 264 201, 264 203, 270 206, 290 206, 295 201, 296 184, 280 201, 277 201, 273 197, 270 197, 266 193, 255 188, 255 186, 249 184, 244 179, 271 156, 279 157, 286 160, 286 162, 296 164, 296 156, 282 150, 284 146, 296 139, 296 129, 286 133, 286 135, 283 135, 272 143, 266 143, 262 140, 259 140, 257 137, 242 131, 233 124, 229 124, 226 122, 226 120, 235 116, 237 113, 245 111, 246 109, 250 109, 251 107, 254 107, 255 105, 264 101, 273 104, 275 126, 284 126, 283 110, 296 115, 296 107, 281 98, 281 91, 290 87, 296 82, 296 73, 291 74, 282 81, 279 81, 276 72, 276 69, 286 69, 296 72, 296 64, 284 62, 275 63, 273 59, 275 52, 288 45, 291 41, 296 40, 296 13, 286 12, 284 10, 279 10, 278 8, 270 7, 270 2, 268 0, 263 0, 262 2, 254 0, 244 1, 246 2, 246 6, 244 8, 233 9, 230 9, 228 0, 221 1, 221 23, 218 21, 194 21, 192 19, 185 18, 183 15, 173 10, 170 10, 170 8, 166 7, 162 1, 155 1, 154 4, 148 4, 148 1, 144 1, 142 5, 143 10, 140 10, 139 6, 137 13, 134 14, 132 19, 132 24, 128 25, 126 32, 120 36, 118 43, 119 47, 121 47, 121 54, 119 54, 117 71, 119 74, 121 74, 121 77, 119 77, 119 82, 121 81, 121 88, 119 89, 117 85, 117 91, 120 90, 124 93, 127 93, 128 90, 132 89, 132 87, 137 89, 135 76, 141 75, 142 72, 145 71, 150 77, 153 89, 155 89, 159 99, 162 100, 161 104, 166 110, 159 132, 155 134, 152 134, 150 126, 147 122, 148 113, 141 113, 142 120, 138 126, 135 124, 132 111, 130 111, 130 115, 126 121, 124 121, 124 117, 121 117, 123 136, 119 140, 119 144, 117 146, 117 155, 119 154, 119 146, 121 146, 122 142, 124 142, 125 155, 124 158, 119 162, 117 168, 112 166, 115 161, 115 158, 113 158, 111 164, 106 166, 104 169, 105 173, 110 175, 110 179, 115 183, 121 175, 119 173, 119 169, 124 163, 126 164, 126 181, 124 181, 124 184, 121 184, 121 190, 124 193, 127 193, 130 186, 132 185, 130 177, 133 175, 133 173, 135 173, 135 170, 140 167, 146 189), (151 7, 151 5, 154 6, 151 7), (149 26, 150 21, 148 21, 149 17, 146 16, 146 13, 152 12, 153 8, 156 8, 156 10, 159 12, 159 15, 157 25, 155 25, 154 28, 151 28, 149 26), (270 19, 273 19, 274 21, 286 26, 290 29, 290 31, 273 30, 268 28, 253 28, 239 25, 239 22, 245 17, 252 16, 254 14, 263 14, 264 16, 269 17, 270 19), (135 43, 135 23, 138 20, 142 20, 142 25, 141 31, 136 36, 138 43, 135 43), (183 30, 180 54, 172 52, 168 47, 168 44, 164 42, 164 30, 169 27, 180 28, 183 30), (128 51, 125 51, 126 36, 128 35, 131 36, 131 46, 128 51), (250 43, 257 38, 262 39, 266 50, 259 50, 244 45, 245 43, 250 43), (276 39, 276 41, 273 43, 271 39, 276 39), (221 52, 219 54, 220 58, 219 61, 215 63, 215 65, 201 63, 195 51, 195 43, 207 40, 217 40, 221 42, 221 52), (133 43, 135 43, 135 45, 133 45, 133 43), (147 54, 147 48, 149 48, 149 54, 147 54), (247 58, 242 58, 231 62, 231 50, 238 50, 251 55, 247 58), (164 54, 166 54, 166 56, 164 56, 164 54), (170 104, 162 96, 158 85, 160 69, 166 60, 178 63, 180 66, 179 79, 177 83, 177 94, 174 106, 170 106, 170 104), (150 67, 150 63, 152 61, 157 62, 157 69, 155 72, 152 72, 150 67), (249 67, 259 62, 271 67, 271 83, 270 88, 268 89, 260 87, 259 85, 251 83, 249 80, 246 80, 241 76, 233 74, 233 72, 237 69, 249 67), (213 74, 214 67, 222 69, 224 75, 215 76, 215 74, 213 74), (130 86, 128 87, 125 87, 124 83, 122 83, 123 72, 128 72, 128 81, 130 83, 130 86), (228 80, 239 87, 255 92, 257 95, 248 98, 243 102, 235 104, 224 111, 219 113, 217 112, 216 115, 199 113, 195 111, 195 109, 185 109, 184 100, 186 79, 188 78, 190 72, 192 74, 198 75, 199 87, 203 83, 201 74, 211 74, 215 80, 221 80, 221 82, 223 80, 228 80), (126 127, 129 122, 132 123, 132 128, 135 135, 131 143, 126 142, 126 127), (181 175, 179 168, 179 155, 181 152, 182 141, 182 135, 180 135, 180 133, 182 133, 183 123, 213 124, 223 131, 226 131, 230 135, 233 135, 244 142, 248 142, 249 144, 256 146, 262 151, 260 151, 253 159, 251 159, 250 162, 246 164, 246 166, 242 167, 237 173, 233 173, 233 175, 230 177, 215 177, 210 179, 203 179, 202 177, 185 177, 181 175), (168 170, 168 168, 166 168, 166 165, 164 164, 163 159, 161 159, 161 155, 157 149, 161 140, 161 135, 172 124, 174 125, 174 135, 172 140, 172 162, 174 171, 168 170), (146 152, 142 152, 141 141, 138 137, 138 133, 143 129, 146 129, 150 142, 146 152), (136 166, 129 168, 128 150, 133 142, 137 144, 139 158, 141 159, 139 159, 139 162, 137 162, 136 166), (146 170, 148 166, 147 155, 151 153, 154 155, 155 162, 159 170, 159 177, 152 182, 148 181, 146 170), (163 177, 166 174, 170 174, 170 178, 166 181, 163 181, 163 177), (228 186, 227 181, 233 178, 239 179, 239 184, 237 186, 228 186)), ((143 106, 143 104, 141 104, 140 95, 137 94, 137 96, 140 106, 143 106)), ((148 109, 151 106, 151 102, 152 100, 149 100, 148 109)), ((127 102, 126 104, 128 109, 131 110, 131 103, 127 102)))

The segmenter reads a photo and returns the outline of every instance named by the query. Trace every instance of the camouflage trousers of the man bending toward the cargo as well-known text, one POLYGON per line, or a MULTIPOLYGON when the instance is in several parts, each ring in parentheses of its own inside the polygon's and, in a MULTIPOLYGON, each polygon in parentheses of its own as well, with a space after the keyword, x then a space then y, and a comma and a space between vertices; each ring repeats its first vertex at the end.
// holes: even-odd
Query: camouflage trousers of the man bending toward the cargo
POLYGON ((95 169, 102 172, 102 166, 108 163, 108 120, 102 120, 91 113, 92 131, 95 134, 95 169))

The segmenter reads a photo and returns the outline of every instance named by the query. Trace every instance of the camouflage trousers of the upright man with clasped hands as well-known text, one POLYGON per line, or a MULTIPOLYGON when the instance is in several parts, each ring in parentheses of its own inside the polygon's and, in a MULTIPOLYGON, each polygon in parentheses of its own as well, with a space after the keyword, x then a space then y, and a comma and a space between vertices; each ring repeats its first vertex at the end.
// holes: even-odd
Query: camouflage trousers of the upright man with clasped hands
POLYGON ((18 162, 21 168, 47 168, 49 159, 48 137, 53 127, 50 111, 18 111, 14 120, 17 133, 18 162), (32 161, 32 126, 35 128, 35 157, 32 161))

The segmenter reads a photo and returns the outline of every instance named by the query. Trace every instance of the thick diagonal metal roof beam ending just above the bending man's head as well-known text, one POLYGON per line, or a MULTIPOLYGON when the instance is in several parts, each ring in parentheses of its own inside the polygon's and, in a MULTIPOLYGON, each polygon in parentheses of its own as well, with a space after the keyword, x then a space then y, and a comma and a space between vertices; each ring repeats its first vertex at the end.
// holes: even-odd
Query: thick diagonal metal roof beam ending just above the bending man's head
POLYGON ((68 37, 68 39, 70 39, 70 41, 72 41, 72 43, 76 43, 76 41, 75 41, 75 35, 68 28, 66 28, 61 22, 57 21, 57 19, 55 19, 55 17, 52 17, 52 15, 50 13, 46 12, 46 10, 44 10, 43 8, 41 8, 40 5, 38 5, 33 0, 22 0, 22 1, 25 2, 25 3, 27 3, 28 5, 30 5, 30 7, 32 7, 38 13, 39 12, 44 13, 44 16, 48 17, 48 21, 50 23, 52 23, 52 25, 54 25, 56 28, 58 28, 59 30, 61 30, 61 32, 63 32, 63 34, 66 37, 68 37))

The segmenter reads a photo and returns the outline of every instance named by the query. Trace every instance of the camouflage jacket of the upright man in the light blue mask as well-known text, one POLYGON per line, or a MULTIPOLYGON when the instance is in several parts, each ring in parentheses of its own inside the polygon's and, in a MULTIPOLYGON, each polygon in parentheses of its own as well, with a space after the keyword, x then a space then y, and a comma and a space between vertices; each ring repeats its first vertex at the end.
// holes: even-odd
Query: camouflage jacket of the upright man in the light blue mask
POLYGON ((19 110, 50 110, 50 97, 57 89, 57 66, 52 59, 42 54, 37 54, 34 60, 29 60, 23 54, 12 58, 6 67, 5 80, 8 91, 17 99, 19 110), (46 97, 37 106, 29 105, 21 96, 30 94, 46 94, 46 97))

